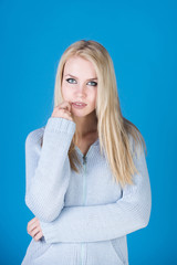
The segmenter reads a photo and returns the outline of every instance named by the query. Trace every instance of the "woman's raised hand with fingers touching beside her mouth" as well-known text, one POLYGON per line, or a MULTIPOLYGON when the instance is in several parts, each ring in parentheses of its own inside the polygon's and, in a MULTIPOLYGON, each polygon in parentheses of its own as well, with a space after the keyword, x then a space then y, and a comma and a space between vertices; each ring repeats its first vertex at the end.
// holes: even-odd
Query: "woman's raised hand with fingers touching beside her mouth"
POLYGON ((64 100, 60 105, 58 105, 53 109, 52 117, 66 118, 73 121, 73 117, 71 113, 71 103, 64 100))

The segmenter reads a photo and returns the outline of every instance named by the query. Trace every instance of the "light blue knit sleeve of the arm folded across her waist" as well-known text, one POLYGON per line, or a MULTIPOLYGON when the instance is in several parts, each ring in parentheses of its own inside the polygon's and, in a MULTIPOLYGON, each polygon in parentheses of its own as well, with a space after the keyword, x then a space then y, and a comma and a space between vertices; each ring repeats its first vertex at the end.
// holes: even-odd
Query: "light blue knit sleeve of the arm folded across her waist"
POLYGON ((147 226, 152 191, 144 151, 134 161, 139 173, 134 174, 134 184, 126 184, 115 203, 64 206, 54 222, 40 221, 46 243, 107 241, 147 226))

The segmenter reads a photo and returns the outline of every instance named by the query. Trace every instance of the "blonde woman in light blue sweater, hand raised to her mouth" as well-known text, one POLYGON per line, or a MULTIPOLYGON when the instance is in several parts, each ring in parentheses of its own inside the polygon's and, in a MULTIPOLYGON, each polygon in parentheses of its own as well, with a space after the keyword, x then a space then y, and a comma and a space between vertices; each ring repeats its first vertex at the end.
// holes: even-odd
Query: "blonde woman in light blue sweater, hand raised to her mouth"
POLYGON ((128 264, 126 235, 146 227, 152 210, 145 151, 122 115, 106 49, 70 45, 53 113, 25 139, 25 203, 35 218, 22 265, 128 264))

